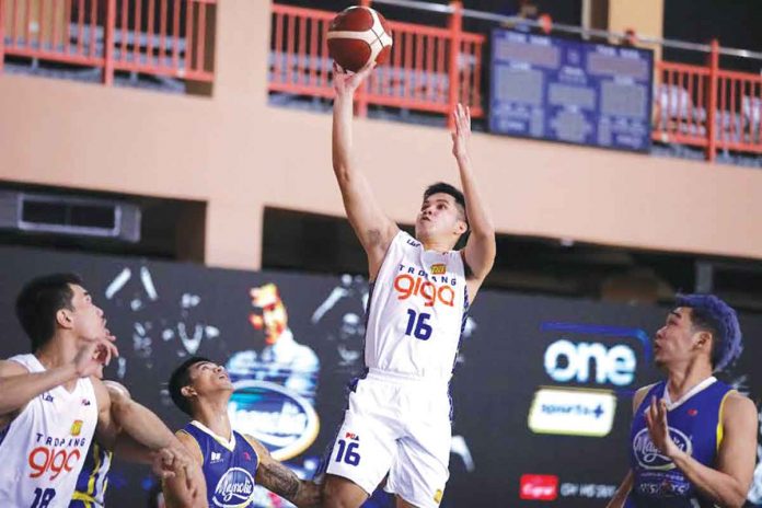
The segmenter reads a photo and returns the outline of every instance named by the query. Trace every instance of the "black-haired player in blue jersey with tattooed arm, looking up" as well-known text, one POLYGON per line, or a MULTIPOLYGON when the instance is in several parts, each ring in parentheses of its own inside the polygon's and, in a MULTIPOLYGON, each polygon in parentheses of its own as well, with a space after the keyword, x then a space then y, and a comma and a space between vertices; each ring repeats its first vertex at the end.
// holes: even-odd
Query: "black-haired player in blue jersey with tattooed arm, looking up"
MULTIPOLYGON (((254 485, 300 508, 320 506, 318 485, 299 480, 256 439, 232 429, 228 417, 232 393, 233 384, 224 368, 201 357, 185 360, 170 378, 172 401, 193 418, 177 431, 177 438, 204 472, 206 503, 198 506, 247 507, 254 497, 254 485)), ((182 472, 164 482, 169 508, 187 506, 177 500, 177 496, 187 497, 186 485, 182 472)))

